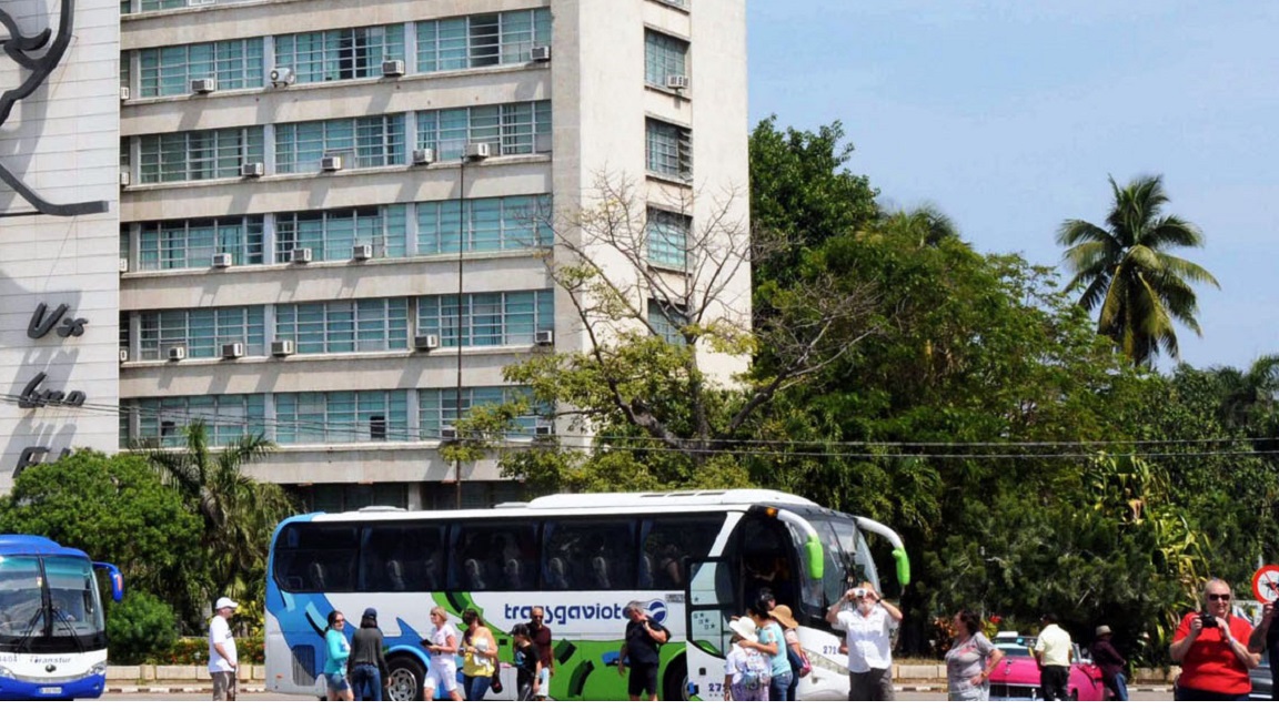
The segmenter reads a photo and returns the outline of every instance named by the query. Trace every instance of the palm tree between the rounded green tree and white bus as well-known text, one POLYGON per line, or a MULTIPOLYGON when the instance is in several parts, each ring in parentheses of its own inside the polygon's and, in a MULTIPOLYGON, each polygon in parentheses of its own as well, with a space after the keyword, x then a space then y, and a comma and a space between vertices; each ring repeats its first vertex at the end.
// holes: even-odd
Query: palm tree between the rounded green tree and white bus
POLYGON ((261 434, 211 451, 208 428, 196 420, 183 428, 180 449, 136 442, 130 448, 146 457, 164 480, 179 490, 205 521, 203 543, 215 589, 210 596, 244 593, 266 570, 267 544, 275 525, 293 512, 283 488, 243 474, 246 464, 275 449, 261 434))

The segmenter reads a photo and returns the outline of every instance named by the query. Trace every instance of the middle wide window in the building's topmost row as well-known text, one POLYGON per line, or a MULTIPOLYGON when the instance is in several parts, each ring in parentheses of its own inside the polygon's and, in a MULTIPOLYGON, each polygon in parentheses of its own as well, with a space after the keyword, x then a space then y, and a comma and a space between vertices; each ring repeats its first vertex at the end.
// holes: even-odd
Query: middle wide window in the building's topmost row
POLYGON ((382 75, 382 60, 404 59, 404 26, 357 27, 280 34, 275 65, 293 69, 298 83, 382 75))

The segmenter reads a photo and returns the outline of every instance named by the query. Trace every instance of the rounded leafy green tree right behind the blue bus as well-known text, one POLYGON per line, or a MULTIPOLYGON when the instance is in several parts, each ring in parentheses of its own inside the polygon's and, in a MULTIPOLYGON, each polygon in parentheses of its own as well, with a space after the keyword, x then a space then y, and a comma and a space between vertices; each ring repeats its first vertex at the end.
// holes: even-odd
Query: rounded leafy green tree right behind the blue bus
POLYGON ((45 535, 111 562, 128 590, 169 599, 189 618, 208 585, 200 518, 128 453, 81 449, 23 470, 0 501, 0 529, 45 535))

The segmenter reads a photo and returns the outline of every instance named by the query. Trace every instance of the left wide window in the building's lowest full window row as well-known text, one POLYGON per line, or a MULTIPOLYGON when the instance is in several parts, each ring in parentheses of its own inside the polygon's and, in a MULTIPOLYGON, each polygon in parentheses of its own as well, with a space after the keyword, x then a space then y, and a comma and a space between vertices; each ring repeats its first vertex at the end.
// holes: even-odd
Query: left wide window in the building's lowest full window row
POLYGON ((122 409, 138 412, 137 438, 162 447, 185 444, 182 429, 203 420, 212 446, 229 446, 251 434, 265 434, 263 395, 210 395, 122 400, 122 409))

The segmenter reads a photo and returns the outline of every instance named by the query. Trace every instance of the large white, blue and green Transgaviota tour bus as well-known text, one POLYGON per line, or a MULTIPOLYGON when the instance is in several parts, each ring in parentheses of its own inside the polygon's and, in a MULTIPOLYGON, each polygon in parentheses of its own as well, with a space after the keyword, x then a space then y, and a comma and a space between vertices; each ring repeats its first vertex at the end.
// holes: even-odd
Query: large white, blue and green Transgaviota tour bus
POLYGON ((515 693, 512 627, 546 610, 555 646, 555 700, 625 700, 618 651, 623 609, 643 601, 670 630, 659 670, 664 699, 720 700, 728 622, 761 589, 788 604, 813 672, 801 700, 843 700, 842 635, 825 609, 851 585, 879 575, 865 532, 893 547, 898 582, 909 581, 900 538, 875 521, 774 490, 556 494, 487 510, 366 508, 307 513, 280 524, 266 587, 267 687, 324 695, 322 632, 330 610, 356 619, 379 610, 390 696, 420 697, 430 656, 428 612, 450 623, 476 609, 498 638, 504 692, 515 693))

